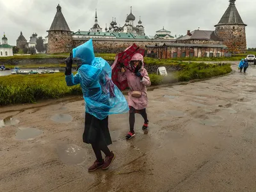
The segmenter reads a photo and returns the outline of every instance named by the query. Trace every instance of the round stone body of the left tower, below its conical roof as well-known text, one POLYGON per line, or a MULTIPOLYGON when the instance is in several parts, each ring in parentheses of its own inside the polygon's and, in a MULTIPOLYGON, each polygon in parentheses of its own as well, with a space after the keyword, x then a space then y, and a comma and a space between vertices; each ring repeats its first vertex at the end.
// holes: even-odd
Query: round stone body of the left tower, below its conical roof
POLYGON ((72 33, 70 31, 49 31, 47 53, 70 52, 72 49, 72 33))

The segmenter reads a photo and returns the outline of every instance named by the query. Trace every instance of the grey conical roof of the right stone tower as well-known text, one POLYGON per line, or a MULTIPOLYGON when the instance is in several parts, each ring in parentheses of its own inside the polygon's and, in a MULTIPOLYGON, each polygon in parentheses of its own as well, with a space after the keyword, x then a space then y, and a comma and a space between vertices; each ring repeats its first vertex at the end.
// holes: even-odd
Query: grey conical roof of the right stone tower
POLYGON ((239 15, 239 12, 237 11, 235 1, 236 0, 229 0, 230 4, 226 12, 221 17, 220 22, 216 24, 214 27, 221 26, 221 25, 228 25, 228 24, 230 25, 237 24, 237 25, 247 26, 246 24, 244 24, 241 16, 239 15))

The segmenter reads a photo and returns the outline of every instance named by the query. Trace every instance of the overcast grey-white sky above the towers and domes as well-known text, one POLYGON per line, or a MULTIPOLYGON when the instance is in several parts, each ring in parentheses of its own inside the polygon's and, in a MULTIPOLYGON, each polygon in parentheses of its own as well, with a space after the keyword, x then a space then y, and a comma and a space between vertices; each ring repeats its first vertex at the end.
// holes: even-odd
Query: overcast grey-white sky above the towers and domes
MULTIPOLYGON (((186 35, 190 29, 214 30, 225 10, 228 0, 0 0, 0 35, 5 32, 8 44, 16 45, 20 31, 27 40, 34 32, 46 36, 60 3, 63 15, 71 31, 88 31, 95 20, 97 8, 98 22, 106 27, 116 17, 116 22, 124 25, 126 14, 132 13, 138 23, 139 17, 146 35, 165 29, 172 35, 186 35)), ((236 7, 246 27, 247 47, 256 47, 255 0, 237 0, 236 7)))

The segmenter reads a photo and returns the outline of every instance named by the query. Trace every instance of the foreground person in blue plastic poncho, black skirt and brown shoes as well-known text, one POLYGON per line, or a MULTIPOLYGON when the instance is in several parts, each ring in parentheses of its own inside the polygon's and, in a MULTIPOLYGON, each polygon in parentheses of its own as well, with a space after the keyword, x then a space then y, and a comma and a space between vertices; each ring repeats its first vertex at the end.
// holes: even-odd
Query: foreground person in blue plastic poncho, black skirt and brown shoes
POLYGON ((115 159, 108 145, 112 143, 108 129, 108 116, 129 111, 127 101, 111 80, 111 67, 102 58, 95 58, 92 39, 74 48, 65 60, 67 86, 80 84, 86 103, 84 143, 92 144, 97 160, 88 168, 107 169, 115 159), (77 74, 72 74, 72 64, 77 65, 77 74), (106 155, 102 158, 101 151, 106 155))

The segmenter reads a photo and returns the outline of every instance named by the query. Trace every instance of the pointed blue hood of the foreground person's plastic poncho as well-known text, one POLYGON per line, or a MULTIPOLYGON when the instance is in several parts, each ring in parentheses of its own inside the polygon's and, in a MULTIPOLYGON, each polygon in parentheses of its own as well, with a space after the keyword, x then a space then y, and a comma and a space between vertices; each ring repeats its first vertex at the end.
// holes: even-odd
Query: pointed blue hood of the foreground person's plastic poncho
POLYGON ((92 38, 82 45, 73 49, 73 61, 77 62, 77 65, 87 64, 90 65, 95 58, 93 51, 92 38))

